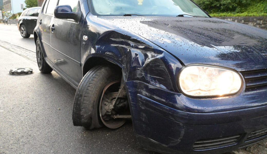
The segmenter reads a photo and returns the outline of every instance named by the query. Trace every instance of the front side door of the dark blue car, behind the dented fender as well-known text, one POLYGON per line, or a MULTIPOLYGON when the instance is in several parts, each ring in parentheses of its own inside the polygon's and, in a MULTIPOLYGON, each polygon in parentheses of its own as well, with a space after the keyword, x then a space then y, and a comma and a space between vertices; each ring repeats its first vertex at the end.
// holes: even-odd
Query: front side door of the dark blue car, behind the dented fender
MULTIPOLYGON (((59 0, 58 5, 70 5, 73 12, 81 11, 78 0, 59 0)), ((80 47, 83 21, 83 15, 77 22, 54 17, 54 30, 50 33, 54 65, 75 86, 78 86, 82 78, 80 47)))

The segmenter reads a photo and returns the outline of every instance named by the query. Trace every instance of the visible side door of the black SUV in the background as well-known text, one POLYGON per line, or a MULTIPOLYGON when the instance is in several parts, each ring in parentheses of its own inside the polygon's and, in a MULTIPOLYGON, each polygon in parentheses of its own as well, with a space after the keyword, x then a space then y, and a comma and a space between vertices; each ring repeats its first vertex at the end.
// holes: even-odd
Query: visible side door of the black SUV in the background
POLYGON ((26 28, 29 34, 33 34, 33 30, 36 26, 37 18, 36 18, 37 9, 29 10, 27 14, 27 18, 25 19, 26 28))

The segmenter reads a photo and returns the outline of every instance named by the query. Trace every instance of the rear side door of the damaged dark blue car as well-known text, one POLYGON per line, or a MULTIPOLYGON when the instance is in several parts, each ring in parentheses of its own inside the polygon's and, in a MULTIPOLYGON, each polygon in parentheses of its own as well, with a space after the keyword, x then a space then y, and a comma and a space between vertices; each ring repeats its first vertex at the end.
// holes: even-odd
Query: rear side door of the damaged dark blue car
POLYGON ((51 43, 50 43, 50 27, 53 20, 54 9, 57 5, 57 0, 46 0, 45 6, 41 10, 40 15, 40 32, 41 32, 41 41, 44 46, 44 57, 46 61, 49 62, 50 65, 53 65, 53 54, 51 51, 51 43))

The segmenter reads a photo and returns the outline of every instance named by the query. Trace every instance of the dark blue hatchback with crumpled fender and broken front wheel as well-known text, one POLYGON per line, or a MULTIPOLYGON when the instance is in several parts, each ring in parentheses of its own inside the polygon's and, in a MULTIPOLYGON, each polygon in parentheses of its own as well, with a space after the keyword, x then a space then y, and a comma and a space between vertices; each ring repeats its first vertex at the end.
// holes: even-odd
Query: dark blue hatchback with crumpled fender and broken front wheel
POLYGON ((160 153, 224 153, 267 137, 267 31, 191 0, 46 0, 38 67, 77 89, 73 124, 160 153))

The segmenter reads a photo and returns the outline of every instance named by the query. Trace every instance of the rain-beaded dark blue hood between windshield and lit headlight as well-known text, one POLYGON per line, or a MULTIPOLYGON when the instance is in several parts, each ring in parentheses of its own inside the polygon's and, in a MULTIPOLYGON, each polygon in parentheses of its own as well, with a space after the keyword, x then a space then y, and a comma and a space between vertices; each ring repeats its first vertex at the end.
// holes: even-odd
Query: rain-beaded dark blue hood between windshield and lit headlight
POLYGON ((267 68, 267 31, 217 18, 98 17, 171 53, 184 65, 267 68))

